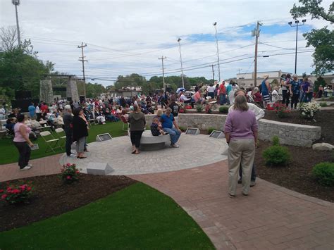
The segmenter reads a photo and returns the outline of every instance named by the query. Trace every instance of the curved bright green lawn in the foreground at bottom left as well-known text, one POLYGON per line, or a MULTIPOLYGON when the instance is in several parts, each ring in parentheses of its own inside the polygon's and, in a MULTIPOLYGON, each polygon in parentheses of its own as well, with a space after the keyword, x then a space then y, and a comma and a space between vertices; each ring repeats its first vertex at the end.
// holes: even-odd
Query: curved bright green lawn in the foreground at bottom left
POLYGON ((0 249, 214 249, 168 196, 142 183, 63 215, 0 233, 0 249))

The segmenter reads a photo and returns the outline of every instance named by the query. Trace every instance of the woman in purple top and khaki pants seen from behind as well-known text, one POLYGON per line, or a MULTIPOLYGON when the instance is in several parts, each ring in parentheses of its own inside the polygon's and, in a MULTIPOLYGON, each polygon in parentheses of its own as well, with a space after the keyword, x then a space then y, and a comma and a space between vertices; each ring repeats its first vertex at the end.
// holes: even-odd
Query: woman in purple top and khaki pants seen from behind
POLYGON ((225 138, 228 143, 228 194, 235 197, 237 179, 242 166, 242 194, 247 196, 255 156, 258 125, 254 112, 248 110, 243 95, 235 97, 234 109, 225 121, 225 138))

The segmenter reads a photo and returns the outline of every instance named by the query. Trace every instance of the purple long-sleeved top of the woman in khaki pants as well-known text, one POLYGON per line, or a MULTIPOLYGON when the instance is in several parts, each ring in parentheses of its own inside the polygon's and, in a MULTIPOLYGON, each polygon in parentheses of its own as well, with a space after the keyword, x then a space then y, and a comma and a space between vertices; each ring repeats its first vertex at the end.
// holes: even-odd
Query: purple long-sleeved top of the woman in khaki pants
POLYGON ((254 112, 233 110, 225 120, 224 132, 233 139, 254 139, 253 131, 258 128, 254 112))

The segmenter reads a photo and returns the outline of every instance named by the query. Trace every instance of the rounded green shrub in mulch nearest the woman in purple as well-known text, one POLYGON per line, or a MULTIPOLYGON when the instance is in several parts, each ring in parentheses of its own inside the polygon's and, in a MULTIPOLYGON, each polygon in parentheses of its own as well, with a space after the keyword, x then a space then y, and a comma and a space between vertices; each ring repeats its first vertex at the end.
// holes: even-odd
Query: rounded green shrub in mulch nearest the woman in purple
POLYGON ((269 146, 262 153, 266 165, 287 165, 290 161, 290 152, 286 146, 269 146))

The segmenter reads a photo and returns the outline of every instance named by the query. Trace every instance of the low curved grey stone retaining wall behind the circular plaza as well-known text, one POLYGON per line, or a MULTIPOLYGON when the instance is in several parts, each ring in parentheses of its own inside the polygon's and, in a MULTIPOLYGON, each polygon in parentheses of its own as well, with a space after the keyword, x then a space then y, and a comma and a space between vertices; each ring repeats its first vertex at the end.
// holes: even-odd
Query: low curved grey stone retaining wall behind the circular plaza
MULTIPOLYGON (((154 115, 145 115, 147 125, 150 125, 154 115)), ((223 131, 227 115, 208 115, 189 113, 178 115, 178 125, 182 127, 198 127, 207 130, 214 127, 223 131)), ((259 139, 271 141, 274 135, 280 138, 280 143, 292 146, 307 146, 321 138, 321 127, 300 125, 295 123, 281 123, 275 120, 259 120, 259 139)))

